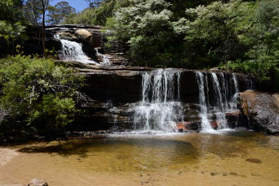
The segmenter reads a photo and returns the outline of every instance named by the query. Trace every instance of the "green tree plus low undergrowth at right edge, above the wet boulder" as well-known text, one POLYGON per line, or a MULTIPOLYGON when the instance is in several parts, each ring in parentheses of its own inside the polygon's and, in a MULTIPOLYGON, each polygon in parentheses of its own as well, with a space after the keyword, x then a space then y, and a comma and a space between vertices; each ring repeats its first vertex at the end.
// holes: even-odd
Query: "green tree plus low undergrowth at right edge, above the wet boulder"
POLYGON ((237 71, 253 73, 279 89, 279 2, 261 1, 251 16, 253 25, 242 38, 249 45, 245 58, 228 63, 237 71))

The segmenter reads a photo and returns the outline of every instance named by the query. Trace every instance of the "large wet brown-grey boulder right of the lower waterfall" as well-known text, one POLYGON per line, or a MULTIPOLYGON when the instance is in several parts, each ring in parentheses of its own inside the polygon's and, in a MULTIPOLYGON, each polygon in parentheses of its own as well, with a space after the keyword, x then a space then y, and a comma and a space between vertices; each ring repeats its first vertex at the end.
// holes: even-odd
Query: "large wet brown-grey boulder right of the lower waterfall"
POLYGON ((279 134, 279 94, 245 91, 239 94, 238 104, 249 128, 279 134))

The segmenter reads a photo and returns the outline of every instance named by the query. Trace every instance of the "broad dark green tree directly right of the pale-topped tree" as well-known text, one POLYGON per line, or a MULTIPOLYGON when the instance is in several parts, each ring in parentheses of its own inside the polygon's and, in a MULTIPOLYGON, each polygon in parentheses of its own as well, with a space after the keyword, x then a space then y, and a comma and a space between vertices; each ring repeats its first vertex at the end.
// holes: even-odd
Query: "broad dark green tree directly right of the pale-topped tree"
POLYGON ((195 61, 191 67, 211 67, 242 57, 245 50, 239 38, 245 32, 251 7, 233 0, 187 9, 181 21, 189 28, 185 30, 185 48, 188 62, 195 61))

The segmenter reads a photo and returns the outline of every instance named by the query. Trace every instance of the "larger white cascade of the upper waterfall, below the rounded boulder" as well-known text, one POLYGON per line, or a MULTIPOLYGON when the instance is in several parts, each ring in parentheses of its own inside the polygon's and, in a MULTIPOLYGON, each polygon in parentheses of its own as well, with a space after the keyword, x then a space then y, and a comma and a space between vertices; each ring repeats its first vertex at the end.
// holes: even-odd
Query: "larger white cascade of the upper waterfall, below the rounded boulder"
POLYGON ((60 39, 58 34, 55 34, 54 38, 60 40, 62 44, 62 55, 64 60, 80 61, 83 63, 99 65, 95 61, 90 60, 90 58, 83 52, 82 45, 80 43, 60 39))

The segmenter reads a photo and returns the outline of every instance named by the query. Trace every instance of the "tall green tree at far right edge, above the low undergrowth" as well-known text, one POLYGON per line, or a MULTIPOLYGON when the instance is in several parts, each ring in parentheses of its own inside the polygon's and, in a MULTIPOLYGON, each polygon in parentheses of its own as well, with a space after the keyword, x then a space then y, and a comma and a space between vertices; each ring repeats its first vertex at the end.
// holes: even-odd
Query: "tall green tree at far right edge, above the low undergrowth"
MULTIPOLYGON (((279 53, 278 15, 279 2, 274 0, 261 1, 255 12, 257 23, 251 29, 250 39, 252 40, 253 47, 248 52, 248 56, 255 60, 257 64, 256 73, 260 77, 263 74, 264 66, 276 61, 272 57, 274 53, 279 53)), ((277 65, 278 68, 279 63, 277 65)))

